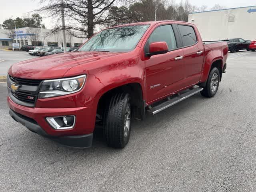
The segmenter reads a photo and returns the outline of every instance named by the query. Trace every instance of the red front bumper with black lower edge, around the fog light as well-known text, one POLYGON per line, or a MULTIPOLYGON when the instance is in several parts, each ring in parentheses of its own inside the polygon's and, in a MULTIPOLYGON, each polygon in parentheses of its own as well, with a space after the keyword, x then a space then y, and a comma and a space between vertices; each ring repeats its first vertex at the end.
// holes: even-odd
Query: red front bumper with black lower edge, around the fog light
MULTIPOLYGON (((12 118, 26 126, 29 130, 41 136, 53 138, 67 146, 81 148, 91 146, 96 118, 96 112, 94 114, 93 106, 89 105, 75 108, 31 108, 16 104, 10 97, 7 98, 7 103, 11 109, 10 115, 12 118), (46 117, 69 115, 76 116, 74 127, 70 129, 56 130, 46 121, 46 117), (70 140, 72 141, 70 142, 70 140), (75 144, 74 140, 77 140, 75 144), (78 144, 80 146, 78 146, 78 144)), ((67 102, 63 102, 63 104, 67 106, 67 102)))

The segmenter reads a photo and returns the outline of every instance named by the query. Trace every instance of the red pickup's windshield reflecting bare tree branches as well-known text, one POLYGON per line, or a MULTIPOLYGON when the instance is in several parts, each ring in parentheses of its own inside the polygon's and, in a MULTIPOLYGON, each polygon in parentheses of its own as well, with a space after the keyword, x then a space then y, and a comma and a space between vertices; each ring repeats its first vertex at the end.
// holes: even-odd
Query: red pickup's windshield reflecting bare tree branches
POLYGON ((148 26, 133 25, 103 30, 88 40, 78 51, 131 51, 138 44, 148 26))

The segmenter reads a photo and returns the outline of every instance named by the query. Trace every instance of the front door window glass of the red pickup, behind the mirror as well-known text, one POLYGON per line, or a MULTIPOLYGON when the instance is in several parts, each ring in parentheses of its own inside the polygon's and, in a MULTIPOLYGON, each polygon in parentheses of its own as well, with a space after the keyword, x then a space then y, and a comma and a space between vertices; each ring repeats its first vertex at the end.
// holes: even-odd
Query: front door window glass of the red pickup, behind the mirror
POLYGON ((150 43, 160 41, 166 42, 169 50, 177 48, 176 39, 171 25, 159 26, 152 32, 148 38, 148 41, 146 42, 145 52, 149 52, 150 43))

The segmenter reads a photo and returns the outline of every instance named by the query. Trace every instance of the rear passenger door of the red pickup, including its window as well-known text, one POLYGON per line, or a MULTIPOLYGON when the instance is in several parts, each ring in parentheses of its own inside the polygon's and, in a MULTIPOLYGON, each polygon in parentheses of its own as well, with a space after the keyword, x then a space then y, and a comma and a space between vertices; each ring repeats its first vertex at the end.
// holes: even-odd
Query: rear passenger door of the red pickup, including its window
POLYGON ((199 32, 189 24, 178 24, 184 51, 184 87, 196 84, 201 76, 204 61, 204 45, 199 32))

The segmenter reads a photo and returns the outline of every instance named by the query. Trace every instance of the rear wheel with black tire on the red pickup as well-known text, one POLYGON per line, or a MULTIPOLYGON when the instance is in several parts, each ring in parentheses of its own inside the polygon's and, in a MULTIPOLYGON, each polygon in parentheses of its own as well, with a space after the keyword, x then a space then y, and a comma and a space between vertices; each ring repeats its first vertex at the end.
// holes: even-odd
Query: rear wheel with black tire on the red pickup
POLYGON ((218 91, 218 88, 219 88, 219 84, 220 84, 220 72, 219 70, 214 67, 211 71, 210 71, 210 74, 208 76, 208 79, 207 79, 207 82, 206 82, 206 86, 204 87, 204 90, 202 90, 200 93, 202 96, 204 97, 208 97, 208 98, 211 98, 213 97, 217 91, 218 91), (213 76, 216 76, 217 75, 217 80, 218 82, 216 83, 216 79, 213 77, 213 76), (212 80, 212 78, 214 80, 212 80), (213 84, 214 82, 214 84, 213 84), (215 86, 215 84, 217 84, 215 86), (214 86, 214 88, 212 87, 212 85, 214 86))

